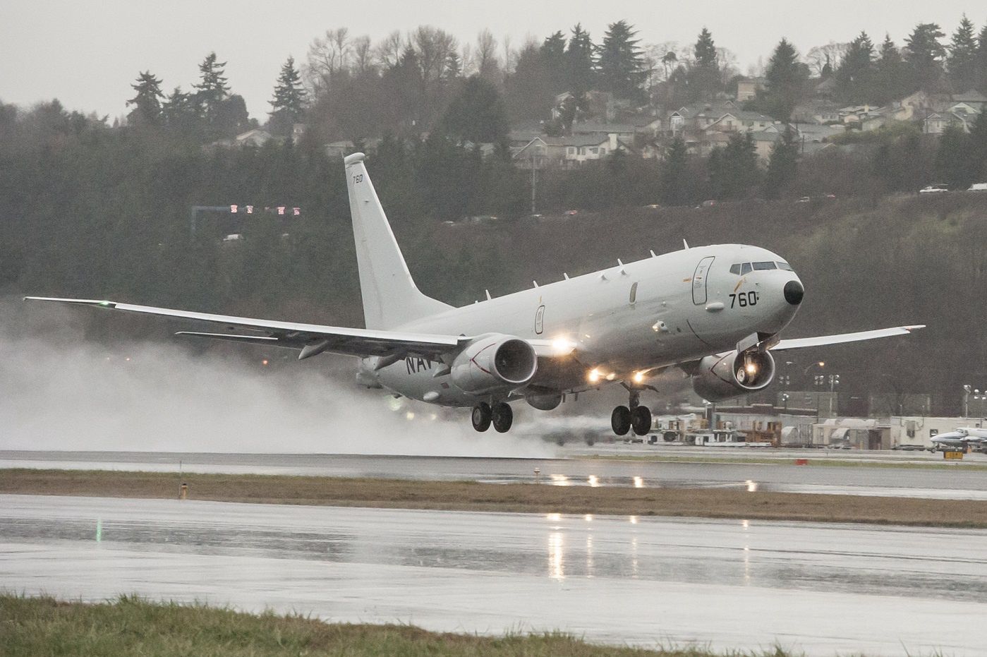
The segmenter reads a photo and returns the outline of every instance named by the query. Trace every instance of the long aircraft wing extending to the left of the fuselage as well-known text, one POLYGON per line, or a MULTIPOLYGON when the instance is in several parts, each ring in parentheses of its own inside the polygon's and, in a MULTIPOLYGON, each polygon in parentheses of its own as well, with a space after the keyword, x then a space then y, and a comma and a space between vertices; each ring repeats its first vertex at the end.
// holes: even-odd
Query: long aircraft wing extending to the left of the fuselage
POLYGON ((294 322, 279 322, 269 319, 253 319, 250 317, 213 315, 204 312, 172 310, 170 308, 156 308, 148 305, 134 305, 132 303, 117 303, 115 301, 95 299, 26 296, 24 300, 52 301, 69 305, 88 305, 145 315, 209 322, 225 326, 227 330, 238 331, 238 333, 180 331, 177 335, 299 349, 301 350, 301 354, 298 356, 299 359, 315 356, 323 352, 359 357, 382 356, 392 358, 402 358, 406 355, 414 354, 437 359, 441 354, 459 349, 461 341, 469 340, 468 338, 459 336, 406 333, 403 331, 377 331, 343 328, 339 326, 323 326, 320 324, 297 324, 294 322))

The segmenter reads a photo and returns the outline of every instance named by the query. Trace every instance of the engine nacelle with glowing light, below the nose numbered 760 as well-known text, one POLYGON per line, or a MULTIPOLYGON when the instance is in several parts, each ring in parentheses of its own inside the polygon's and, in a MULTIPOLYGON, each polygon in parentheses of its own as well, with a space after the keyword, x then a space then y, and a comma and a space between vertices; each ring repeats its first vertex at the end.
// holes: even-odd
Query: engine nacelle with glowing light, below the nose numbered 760
POLYGON ((764 389, 775 377, 775 359, 761 349, 707 356, 692 375, 692 389, 707 401, 722 401, 764 389))

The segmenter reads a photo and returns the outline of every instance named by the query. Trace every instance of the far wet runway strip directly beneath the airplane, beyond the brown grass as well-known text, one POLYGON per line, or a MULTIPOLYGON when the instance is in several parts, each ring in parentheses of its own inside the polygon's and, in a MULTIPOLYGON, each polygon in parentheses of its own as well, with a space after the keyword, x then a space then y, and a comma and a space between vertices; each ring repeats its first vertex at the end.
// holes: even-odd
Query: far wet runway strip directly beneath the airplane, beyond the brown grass
MULTIPOLYGON (((749 452, 749 451, 747 451, 749 452)), ((652 452, 626 452, 635 453, 652 452)), ((664 453, 664 452, 660 452, 664 453)), ((717 452, 695 449, 671 452, 678 457, 717 452)), ((774 453, 774 452, 772 452, 774 453)), ((737 452, 719 452, 737 457, 737 452)), ((755 454, 761 456, 761 452, 755 454)), ((639 487, 718 487, 796 493, 880 495, 934 499, 987 500, 985 454, 958 466, 868 467, 865 465, 795 465, 796 457, 831 458, 832 454, 793 452, 775 462, 681 462, 587 458, 480 458, 441 456, 373 456, 351 454, 235 454, 167 452, 0 452, 0 468, 53 467, 186 472, 252 472, 337 477, 474 480, 492 483, 541 482, 553 485, 639 487), (535 474, 535 468, 538 474, 535 474)), ((861 461, 858 454, 837 457, 861 461)), ((871 458, 908 458, 883 454, 871 458)), ((942 456, 940 456, 942 458, 942 456)), ((880 462, 880 461, 878 461, 880 462)), ((919 460, 916 463, 921 464, 919 460)), ((928 458, 926 461, 928 462, 928 458)))

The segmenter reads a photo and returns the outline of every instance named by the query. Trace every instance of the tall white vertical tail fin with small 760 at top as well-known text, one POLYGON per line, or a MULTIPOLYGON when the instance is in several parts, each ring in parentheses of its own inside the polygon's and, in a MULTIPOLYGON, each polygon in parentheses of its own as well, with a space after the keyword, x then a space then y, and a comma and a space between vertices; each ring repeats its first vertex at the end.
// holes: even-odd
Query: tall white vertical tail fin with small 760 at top
POLYGON ((425 296, 415 286, 363 157, 363 153, 353 153, 343 162, 366 327, 394 328, 449 309, 452 306, 425 296))

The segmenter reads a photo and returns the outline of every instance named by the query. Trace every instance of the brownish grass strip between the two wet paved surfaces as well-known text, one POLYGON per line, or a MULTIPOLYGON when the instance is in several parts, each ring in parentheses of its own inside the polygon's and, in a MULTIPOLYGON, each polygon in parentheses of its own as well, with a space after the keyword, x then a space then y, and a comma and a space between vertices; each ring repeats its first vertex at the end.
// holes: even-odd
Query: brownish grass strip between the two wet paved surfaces
POLYGON ((987 501, 747 492, 721 488, 624 488, 485 484, 262 474, 114 470, 0 470, 0 493, 189 499, 392 509, 797 520, 987 528, 987 501))

